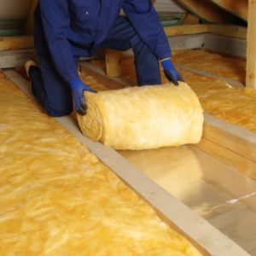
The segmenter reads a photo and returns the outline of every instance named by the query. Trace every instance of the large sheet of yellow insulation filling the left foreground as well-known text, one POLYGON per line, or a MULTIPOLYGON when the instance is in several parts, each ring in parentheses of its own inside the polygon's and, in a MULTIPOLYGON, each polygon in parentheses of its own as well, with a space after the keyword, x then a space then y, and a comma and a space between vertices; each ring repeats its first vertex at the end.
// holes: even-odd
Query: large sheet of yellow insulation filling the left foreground
POLYGON ((0 73, 1 255, 201 255, 0 73))

